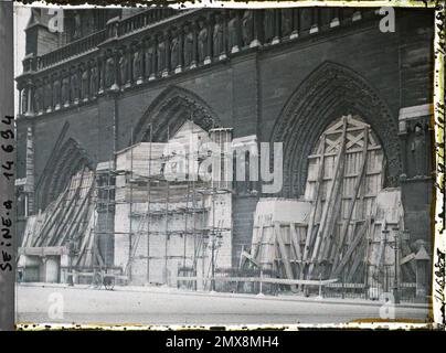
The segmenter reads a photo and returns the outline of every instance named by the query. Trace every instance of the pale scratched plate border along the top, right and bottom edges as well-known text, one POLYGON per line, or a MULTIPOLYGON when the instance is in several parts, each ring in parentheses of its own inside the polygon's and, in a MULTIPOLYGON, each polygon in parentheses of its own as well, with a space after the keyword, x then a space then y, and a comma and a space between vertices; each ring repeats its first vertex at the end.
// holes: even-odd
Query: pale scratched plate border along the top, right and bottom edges
MULTIPOLYGON (((355 322, 343 323, 343 324, 290 324, 290 325, 272 325, 272 324, 253 324, 253 325, 227 325, 226 330, 258 330, 258 329, 276 329, 276 330, 299 330, 302 328, 330 328, 330 329, 389 329, 389 330, 418 330, 418 329, 434 329, 444 330, 446 324, 445 318, 445 259, 446 259, 446 239, 445 239, 445 184, 444 184, 444 172, 445 172, 445 159, 444 159, 444 114, 445 114, 445 101, 444 101, 444 56, 445 56, 445 7, 442 1, 99 1, 91 0, 88 4, 85 6, 86 1, 82 0, 59 0, 59 1, 34 1, 23 4, 22 1, 14 1, 14 6, 26 6, 26 7, 60 7, 66 6, 68 3, 76 4, 70 6, 70 8, 85 8, 104 6, 105 2, 110 3, 114 7, 123 6, 169 6, 172 8, 289 8, 289 7, 354 7, 354 8, 379 8, 379 7, 392 7, 392 8, 411 8, 411 9, 433 9, 435 10, 435 35, 434 35, 434 89, 433 89, 433 117, 431 120, 431 126, 434 129, 435 139, 435 150, 432 151, 435 160, 435 189, 433 190, 433 205, 432 205, 432 229, 433 229, 433 285, 432 285, 432 309, 431 319, 432 322, 420 323, 420 322, 397 322, 396 321, 379 321, 374 320, 369 322, 368 319, 359 320, 355 322)), ((12 28, 11 28, 12 30, 12 28)), ((12 55, 12 53, 11 53, 12 55)), ((2 67, 0 67, 1 69, 2 67)), ((1 96, 0 96, 1 97, 1 96)), ((0 101, 1 103, 1 101, 0 101)), ((3 183, 4 180, 0 179, 3 183)), ((0 189, 2 190, 2 189, 0 189)), ((4 210, 1 208, 1 212, 4 210)), ((3 272, 0 271, 0 285, 2 284, 3 272)), ((14 279, 14 277, 12 277, 14 279)), ((15 286, 14 284, 12 284, 15 286)), ((0 288, 2 290, 2 288, 0 288)), ((1 292, 1 291, 0 291, 1 292)), ((0 298, 1 304, 1 298, 0 298)), ((15 308, 11 308, 15 311, 15 308)), ((0 310, 2 313, 2 311, 0 310)), ((10 315, 7 315, 10 318, 10 315)), ((1 322, 4 320, 10 320, 2 315, 0 317, 0 330, 1 322)), ((10 322, 9 322, 10 324, 10 322)), ((212 327, 209 325, 197 325, 197 327, 184 327, 184 325, 120 325, 120 324, 34 324, 34 323, 15 323, 17 330, 211 330, 212 327)))

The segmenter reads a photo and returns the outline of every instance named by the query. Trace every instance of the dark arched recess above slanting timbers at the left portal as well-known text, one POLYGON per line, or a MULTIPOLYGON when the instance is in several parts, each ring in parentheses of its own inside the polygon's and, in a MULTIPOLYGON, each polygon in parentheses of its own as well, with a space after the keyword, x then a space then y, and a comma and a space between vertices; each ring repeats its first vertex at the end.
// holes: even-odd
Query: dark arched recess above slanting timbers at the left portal
POLYGON ((38 184, 38 204, 44 210, 66 188, 70 179, 84 168, 94 169, 81 145, 70 138, 54 150, 38 184))

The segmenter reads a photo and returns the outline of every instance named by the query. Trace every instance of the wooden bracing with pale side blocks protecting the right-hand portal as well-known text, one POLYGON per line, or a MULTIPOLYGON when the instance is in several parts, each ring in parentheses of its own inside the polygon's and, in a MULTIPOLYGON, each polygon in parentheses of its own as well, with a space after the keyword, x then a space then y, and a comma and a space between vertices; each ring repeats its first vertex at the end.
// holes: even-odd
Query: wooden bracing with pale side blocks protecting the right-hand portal
MULTIPOLYGON (((404 232, 400 191, 383 190, 384 154, 370 126, 359 117, 340 118, 321 135, 308 163, 304 197, 261 199, 252 247, 242 254, 241 265, 302 284, 337 279, 352 288, 367 286, 371 269, 380 271, 383 264, 394 264, 390 243, 383 245, 385 232, 392 228, 397 231, 386 237, 399 242, 395 271, 404 271, 404 278, 413 280, 407 239, 400 236, 404 232), (389 193, 392 196, 384 200, 389 193), (289 210, 294 214, 288 215, 289 210), (399 215, 390 220, 392 213, 399 215), (375 256, 376 252, 381 255, 375 256), (402 258, 406 263, 401 264, 402 258)), ((304 288, 298 287, 291 286, 291 290, 304 288)))

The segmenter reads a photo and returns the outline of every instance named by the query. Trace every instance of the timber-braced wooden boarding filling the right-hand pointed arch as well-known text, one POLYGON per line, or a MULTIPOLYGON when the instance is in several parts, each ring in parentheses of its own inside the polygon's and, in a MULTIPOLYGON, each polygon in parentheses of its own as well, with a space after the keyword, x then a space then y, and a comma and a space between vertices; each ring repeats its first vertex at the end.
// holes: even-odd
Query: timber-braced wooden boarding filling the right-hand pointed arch
POLYGON ((305 200, 311 201, 304 248, 307 278, 363 281, 367 233, 383 189, 385 158, 376 135, 358 116, 344 116, 320 136, 308 157, 305 200), (358 278, 359 277, 359 278, 358 278))

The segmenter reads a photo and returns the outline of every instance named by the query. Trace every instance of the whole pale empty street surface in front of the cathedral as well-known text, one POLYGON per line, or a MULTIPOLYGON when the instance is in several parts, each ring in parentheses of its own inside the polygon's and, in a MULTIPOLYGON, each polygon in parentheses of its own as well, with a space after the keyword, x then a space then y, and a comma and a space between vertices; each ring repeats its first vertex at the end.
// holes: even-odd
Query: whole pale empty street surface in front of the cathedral
POLYGON ((351 321, 428 322, 426 304, 389 306, 360 299, 254 296, 116 286, 17 286, 17 322, 83 324, 312 324, 351 321))

